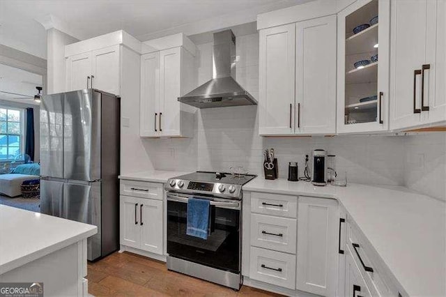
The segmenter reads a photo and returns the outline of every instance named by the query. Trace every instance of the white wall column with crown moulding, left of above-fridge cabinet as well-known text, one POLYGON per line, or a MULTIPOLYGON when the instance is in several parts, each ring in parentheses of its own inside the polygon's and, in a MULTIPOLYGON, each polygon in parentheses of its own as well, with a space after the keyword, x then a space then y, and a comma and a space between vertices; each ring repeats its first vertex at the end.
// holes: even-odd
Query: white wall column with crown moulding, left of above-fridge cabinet
POLYGON ((47 30, 47 93, 66 91, 65 46, 79 40, 58 29, 47 30))

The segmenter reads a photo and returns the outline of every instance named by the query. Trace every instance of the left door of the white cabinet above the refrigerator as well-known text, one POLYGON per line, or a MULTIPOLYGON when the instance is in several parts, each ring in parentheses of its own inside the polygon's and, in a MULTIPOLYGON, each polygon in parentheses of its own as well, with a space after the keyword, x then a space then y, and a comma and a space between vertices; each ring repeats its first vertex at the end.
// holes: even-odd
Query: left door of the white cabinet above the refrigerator
POLYGON ((88 89, 91 84, 91 52, 75 54, 66 60, 66 91, 88 89))

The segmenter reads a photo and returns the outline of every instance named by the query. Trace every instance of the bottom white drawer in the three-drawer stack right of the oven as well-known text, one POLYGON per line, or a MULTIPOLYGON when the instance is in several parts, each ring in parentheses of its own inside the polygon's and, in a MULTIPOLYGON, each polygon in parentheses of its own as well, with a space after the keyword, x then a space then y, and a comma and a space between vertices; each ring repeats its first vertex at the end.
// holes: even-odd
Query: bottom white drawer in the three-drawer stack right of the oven
POLYGON ((295 289, 295 256, 251 247, 249 277, 295 289))

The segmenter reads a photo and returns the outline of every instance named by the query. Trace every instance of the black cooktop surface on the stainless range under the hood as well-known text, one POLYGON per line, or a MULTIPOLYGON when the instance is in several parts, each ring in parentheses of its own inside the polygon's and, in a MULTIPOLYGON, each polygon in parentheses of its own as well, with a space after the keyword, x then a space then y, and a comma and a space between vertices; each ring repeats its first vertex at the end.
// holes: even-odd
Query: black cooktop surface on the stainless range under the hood
POLYGON ((177 179, 183 179, 187 181, 199 181, 203 183, 230 183, 233 185, 245 185, 252 178, 255 178, 254 174, 247 174, 245 176, 236 176, 227 172, 193 172, 191 174, 185 174, 182 176, 176 176, 177 179))

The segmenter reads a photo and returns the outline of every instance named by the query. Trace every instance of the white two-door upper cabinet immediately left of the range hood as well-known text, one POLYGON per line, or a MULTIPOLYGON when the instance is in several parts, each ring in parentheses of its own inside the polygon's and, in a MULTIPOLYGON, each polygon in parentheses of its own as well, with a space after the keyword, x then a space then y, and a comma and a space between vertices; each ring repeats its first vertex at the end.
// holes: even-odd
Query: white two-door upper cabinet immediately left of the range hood
MULTIPOLYGON (((185 38, 185 37, 183 37, 185 38)), ((167 38, 151 40, 164 46, 167 38)), ((186 40, 183 39, 183 42, 186 40)), ((178 43, 174 40, 174 45, 178 43)), ((141 137, 192 137, 195 112, 178 97, 197 86, 195 46, 171 47, 141 56, 141 137)), ((169 45, 172 43, 169 42, 169 45)))

